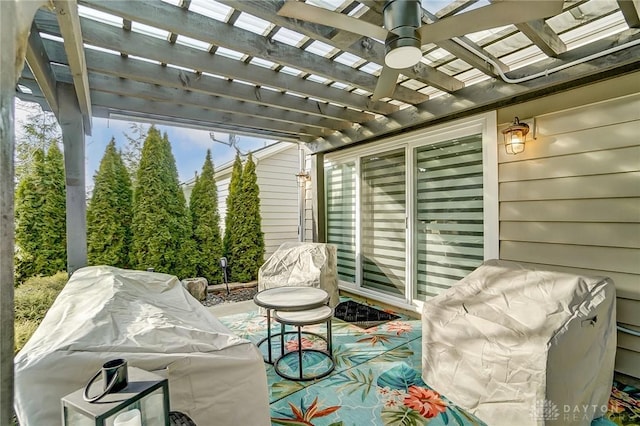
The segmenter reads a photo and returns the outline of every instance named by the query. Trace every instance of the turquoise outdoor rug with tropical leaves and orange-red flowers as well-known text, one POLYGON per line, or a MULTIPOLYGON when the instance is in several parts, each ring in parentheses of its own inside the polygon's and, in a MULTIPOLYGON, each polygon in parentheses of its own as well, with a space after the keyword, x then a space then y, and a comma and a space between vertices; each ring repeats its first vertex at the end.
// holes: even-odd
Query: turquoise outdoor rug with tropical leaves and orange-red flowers
MULTIPOLYGON (((344 300, 348 300, 343 298, 344 300)), ((398 314, 399 315, 399 314, 398 314)), ((220 318, 239 336, 258 343, 266 336, 266 318, 257 310, 220 318)), ((326 336, 324 324, 305 331, 326 336)), ((280 331, 278 323, 272 332, 280 331)), ((484 425, 456 407, 446 396, 430 389, 421 378, 421 323, 399 315, 398 319, 368 329, 333 320, 335 370, 308 382, 284 380, 265 363, 274 425, 311 426, 430 426, 484 425)), ((297 349, 294 334, 286 335, 285 350, 297 349)), ((279 338, 272 339, 274 357, 280 354, 279 338)), ((325 349, 315 334, 304 334, 303 347, 325 349)), ((260 347, 267 354, 267 344, 260 347)), ((280 368, 297 371, 297 357, 287 357, 280 368)), ((305 353, 304 374, 326 371, 330 363, 315 352, 305 353)), ((607 414, 592 426, 640 425, 638 390, 615 383, 607 414)))

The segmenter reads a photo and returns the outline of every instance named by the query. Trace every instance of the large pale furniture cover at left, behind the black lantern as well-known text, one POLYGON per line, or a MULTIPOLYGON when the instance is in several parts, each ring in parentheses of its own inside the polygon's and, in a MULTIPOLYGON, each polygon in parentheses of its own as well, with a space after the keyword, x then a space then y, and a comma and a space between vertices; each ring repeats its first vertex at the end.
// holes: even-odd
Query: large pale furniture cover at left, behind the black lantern
POLYGON ((265 367, 251 342, 176 277, 107 266, 76 271, 16 356, 20 424, 60 425, 60 398, 113 358, 163 370, 171 410, 198 426, 271 424, 265 367))

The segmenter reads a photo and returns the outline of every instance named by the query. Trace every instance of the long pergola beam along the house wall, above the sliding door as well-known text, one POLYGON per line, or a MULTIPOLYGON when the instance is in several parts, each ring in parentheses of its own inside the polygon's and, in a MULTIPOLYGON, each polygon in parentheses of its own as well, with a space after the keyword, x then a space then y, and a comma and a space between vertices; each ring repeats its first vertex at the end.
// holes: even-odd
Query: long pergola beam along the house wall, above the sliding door
MULTIPOLYGON (((540 61, 526 68, 529 74, 548 72, 594 53, 624 45, 640 39, 640 31, 628 30, 590 45, 573 49, 559 56, 540 61)), ((617 52, 598 57, 585 63, 575 63, 547 76, 531 79, 520 84, 501 81, 484 81, 465 87, 454 95, 445 95, 429 100, 415 108, 407 108, 362 126, 336 133, 329 138, 318 139, 309 144, 312 152, 326 152, 364 140, 373 141, 400 131, 424 128, 432 123, 465 117, 478 112, 497 109, 503 105, 525 102, 571 87, 593 83, 616 75, 636 71, 640 65, 640 45, 627 47, 617 52)), ((521 77, 514 71, 511 78, 521 77)))

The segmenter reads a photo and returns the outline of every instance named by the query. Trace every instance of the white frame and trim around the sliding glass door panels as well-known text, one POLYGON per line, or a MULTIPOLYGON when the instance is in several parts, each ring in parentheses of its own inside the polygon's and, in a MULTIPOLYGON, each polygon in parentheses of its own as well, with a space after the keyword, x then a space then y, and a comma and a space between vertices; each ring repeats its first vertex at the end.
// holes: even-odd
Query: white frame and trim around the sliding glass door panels
MULTIPOLYGON (((340 152, 330 153, 325 156, 326 163, 341 164, 354 161, 356 168, 356 206, 360 205, 360 159, 364 156, 383 153, 391 149, 405 147, 406 161, 409 168, 407 175, 411 175, 413 164, 413 152, 416 147, 432 143, 455 139, 480 133, 482 135, 482 161, 483 161, 483 191, 484 191, 484 259, 498 258, 498 138, 497 138, 497 113, 490 111, 477 116, 456 120, 450 123, 440 124, 427 129, 420 129, 410 133, 394 136, 384 141, 368 144, 365 147, 354 147, 340 152)), ((406 185, 407 216, 410 217, 414 208, 413 180, 407 179, 406 185)), ((414 224, 408 221, 406 234, 406 254, 411 258, 414 253, 414 224)), ((360 241, 360 209, 356 208, 356 265, 361 261, 360 241)), ((360 286, 361 268, 356 268, 356 283, 339 282, 339 287, 350 293, 377 300, 401 309, 420 312, 424 302, 413 299, 414 271, 413 266, 408 265, 406 270, 407 288, 405 297, 394 297, 360 286)))

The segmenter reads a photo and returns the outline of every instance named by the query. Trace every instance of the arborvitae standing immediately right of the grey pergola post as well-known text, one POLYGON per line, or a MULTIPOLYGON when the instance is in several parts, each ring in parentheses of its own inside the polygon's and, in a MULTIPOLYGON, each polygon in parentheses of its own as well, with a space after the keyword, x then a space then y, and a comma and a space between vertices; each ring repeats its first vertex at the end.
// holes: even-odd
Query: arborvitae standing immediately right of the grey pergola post
POLYGON ((129 268, 133 192, 129 171, 113 138, 93 181, 87 208, 89 264, 129 268))

